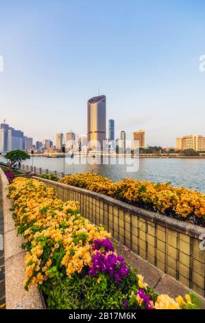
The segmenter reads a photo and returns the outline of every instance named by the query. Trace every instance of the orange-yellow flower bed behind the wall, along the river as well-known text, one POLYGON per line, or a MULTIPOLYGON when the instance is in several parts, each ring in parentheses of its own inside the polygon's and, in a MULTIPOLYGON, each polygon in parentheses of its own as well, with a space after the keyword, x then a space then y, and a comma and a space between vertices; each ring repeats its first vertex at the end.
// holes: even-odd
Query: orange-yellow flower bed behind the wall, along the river
POLYGON ((205 194, 188 188, 133 179, 114 183, 93 172, 68 175, 61 179, 60 183, 86 188, 140 208, 205 226, 205 194))

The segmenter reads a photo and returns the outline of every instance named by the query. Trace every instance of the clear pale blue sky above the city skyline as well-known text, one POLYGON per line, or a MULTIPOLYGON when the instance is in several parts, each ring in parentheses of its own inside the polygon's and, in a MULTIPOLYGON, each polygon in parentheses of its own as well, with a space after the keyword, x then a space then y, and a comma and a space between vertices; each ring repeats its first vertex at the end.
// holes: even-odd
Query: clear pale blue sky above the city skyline
MULTIPOLYGON (((87 100, 149 146, 205 135, 204 0, 0 0, 0 121, 34 140, 87 131, 87 100)), ((107 122, 108 124, 108 122, 107 122)))

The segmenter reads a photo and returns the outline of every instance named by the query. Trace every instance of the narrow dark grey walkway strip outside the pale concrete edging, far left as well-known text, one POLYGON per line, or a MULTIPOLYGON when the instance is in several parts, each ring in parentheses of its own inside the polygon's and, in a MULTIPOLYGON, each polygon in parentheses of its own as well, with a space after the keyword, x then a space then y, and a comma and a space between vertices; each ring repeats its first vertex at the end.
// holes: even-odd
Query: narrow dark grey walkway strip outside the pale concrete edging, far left
MULTIPOLYGON (((3 237, 3 202, 2 202, 2 186, 0 179, 0 239, 3 237)), ((5 309, 5 267, 4 252, 0 245, 0 309, 5 309)))

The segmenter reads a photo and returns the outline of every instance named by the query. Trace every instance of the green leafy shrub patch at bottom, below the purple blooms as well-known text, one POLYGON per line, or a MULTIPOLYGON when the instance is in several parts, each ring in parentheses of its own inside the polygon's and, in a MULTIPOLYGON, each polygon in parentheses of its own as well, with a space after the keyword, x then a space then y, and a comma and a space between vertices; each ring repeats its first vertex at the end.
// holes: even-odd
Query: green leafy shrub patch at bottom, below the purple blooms
POLYGON ((136 271, 130 271, 118 283, 108 278, 106 285, 84 272, 71 278, 44 282, 41 288, 47 296, 49 309, 125 309, 130 287, 136 283, 136 271))

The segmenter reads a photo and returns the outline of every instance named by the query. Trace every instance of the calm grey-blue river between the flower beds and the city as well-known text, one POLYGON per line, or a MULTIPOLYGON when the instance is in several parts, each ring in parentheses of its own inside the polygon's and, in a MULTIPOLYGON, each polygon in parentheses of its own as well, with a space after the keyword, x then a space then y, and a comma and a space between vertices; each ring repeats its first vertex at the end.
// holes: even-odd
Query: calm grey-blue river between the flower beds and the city
MULTIPOLYGON (((2 160, 2 159, 1 159, 2 160)), ((112 160, 109 159, 109 160, 112 160)), ((131 160, 131 159, 130 159, 131 160)), ((84 159, 84 161, 86 161, 84 159)), ((129 159, 128 159, 129 161, 129 159)), ((123 162, 123 159, 119 159, 123 162)), ((24 164, 32 165, 32 160, 24 164)), ((49 170, 63 171, 63 158, 34 157, 34 166, 48 168, 49 170)), ((67 165, 65 172, 95 171, 100 175, 119 181, 123 177, 132 179, 145 179, 154 182, 170 181, 173 186, 184 186, 205 192, 205 159, 140 159, 138 172, 127 172, 127 165, 67 165)))

